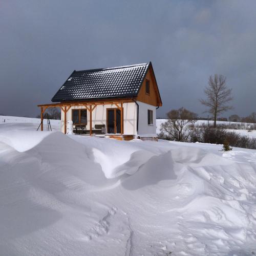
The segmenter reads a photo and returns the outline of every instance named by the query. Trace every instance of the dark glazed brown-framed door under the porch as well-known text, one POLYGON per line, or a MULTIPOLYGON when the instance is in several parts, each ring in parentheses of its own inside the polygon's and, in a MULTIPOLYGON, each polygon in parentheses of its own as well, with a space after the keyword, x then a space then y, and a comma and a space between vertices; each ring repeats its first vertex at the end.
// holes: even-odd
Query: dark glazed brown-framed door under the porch
POLYGON ((121 133, 121 111, 119 109, 106 110, 108 133, 121 133))

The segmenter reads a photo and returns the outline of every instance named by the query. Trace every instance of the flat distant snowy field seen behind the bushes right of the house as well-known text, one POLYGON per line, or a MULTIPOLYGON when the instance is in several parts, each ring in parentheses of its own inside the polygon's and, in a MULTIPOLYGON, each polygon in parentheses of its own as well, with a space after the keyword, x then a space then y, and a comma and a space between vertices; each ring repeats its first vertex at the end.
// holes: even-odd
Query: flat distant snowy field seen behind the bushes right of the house
MULTIPOLYGON (((161 128, 161 123, 164 123, 166 122, 167 119, 157 119, 157 134, 159 134, 161 131, 160 131, 160 128, 161 128)), ((198 120, 196 122, 196 125, 201 125, 201 124, 207 124, 208 121, 207 120, 198 120)), ((214 124, 214 121, 209 121, 209 124, 214 124)), ((217 121, 217 124, 238 124, 238 122, 226 122, 226 121, 217 121)), ((250 126, 250 125, 253 125, 251 123, 240 123, 240 124, 245 124, 247 127, 250 126)), ((227 129, 226 130, 227 132, 234 132, 234 133, 238 133, 239 135, 241 136, 247 136, 249 138, 256 138, 256 130, 252 130, 252 131, 249 131, 248 130, 232 130, 232 129, 227 129)))

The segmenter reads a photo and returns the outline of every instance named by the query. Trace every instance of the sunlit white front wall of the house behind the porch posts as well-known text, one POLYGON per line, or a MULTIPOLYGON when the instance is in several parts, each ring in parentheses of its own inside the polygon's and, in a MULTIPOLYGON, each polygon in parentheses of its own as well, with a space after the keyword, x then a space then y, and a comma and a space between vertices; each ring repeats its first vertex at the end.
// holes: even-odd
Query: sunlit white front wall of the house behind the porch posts
MULTIPOLYGON (((123 103, 123 134, 137 134, 137 108, 134 102, 123 103)), ((116 108, 115 104, 97 105, 92 112, 92 128, 95 124, 105 124, 106 109, 116 108)), ((72 109, 85 109, 84 106, 72 106, 67 113, 67 121, 72 120, 72 109)), ((87 130, 90 130, 90 112, 87 111, 87 130)), ((61 131, 64 133, 64 114, 61 111, 61 131)))

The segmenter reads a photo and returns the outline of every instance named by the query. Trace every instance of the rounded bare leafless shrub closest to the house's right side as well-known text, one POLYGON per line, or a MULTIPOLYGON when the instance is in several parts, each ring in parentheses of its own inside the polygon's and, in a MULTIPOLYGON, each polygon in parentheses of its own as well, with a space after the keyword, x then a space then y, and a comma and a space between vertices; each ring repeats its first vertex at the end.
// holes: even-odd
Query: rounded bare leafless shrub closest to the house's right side
POLYGON ((187 141, 194 127, 196 114, 184 108, 171 110, 167 113, 168 120, 161 124, 160 131, 170 140, 187 141))

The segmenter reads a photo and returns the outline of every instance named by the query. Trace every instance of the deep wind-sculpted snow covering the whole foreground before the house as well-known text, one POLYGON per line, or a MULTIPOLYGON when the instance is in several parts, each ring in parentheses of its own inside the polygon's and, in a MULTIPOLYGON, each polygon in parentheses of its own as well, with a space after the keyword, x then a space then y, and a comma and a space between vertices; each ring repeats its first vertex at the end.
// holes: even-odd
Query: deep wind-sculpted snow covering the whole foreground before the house
POLYGON ((256 150, 37 126, 0 124, 1 255, 255 255, 256 150))

